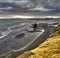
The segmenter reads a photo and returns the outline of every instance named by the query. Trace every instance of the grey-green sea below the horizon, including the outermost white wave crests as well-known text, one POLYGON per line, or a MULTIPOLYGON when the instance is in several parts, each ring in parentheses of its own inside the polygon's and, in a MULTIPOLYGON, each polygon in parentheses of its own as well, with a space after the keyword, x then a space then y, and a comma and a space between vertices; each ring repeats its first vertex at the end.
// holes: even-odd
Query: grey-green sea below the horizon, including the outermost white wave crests
MULTIPOLYGON (((60 20, 60 19, 58 19, 60 20)), ((30 20, 30 19, 0 19, 0 36, 6 34, 7 30, 22 28, 25 24, 33 24, 33 23, 54 23, 58 22, 55 20, 30 20)), ((59 23, 59 22, 58 22, 59 23)))

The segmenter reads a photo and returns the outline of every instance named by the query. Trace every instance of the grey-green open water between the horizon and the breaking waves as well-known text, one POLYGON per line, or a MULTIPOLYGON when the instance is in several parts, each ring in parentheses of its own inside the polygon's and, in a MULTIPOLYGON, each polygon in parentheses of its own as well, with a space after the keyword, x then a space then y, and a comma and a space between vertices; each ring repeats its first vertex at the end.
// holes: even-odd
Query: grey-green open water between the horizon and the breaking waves
POLYGON ((26 20, 26 19, 0 19, 0 30, 7 29, 8 27, 19 25, 22 23, 53 23, 54 20, 26 20))

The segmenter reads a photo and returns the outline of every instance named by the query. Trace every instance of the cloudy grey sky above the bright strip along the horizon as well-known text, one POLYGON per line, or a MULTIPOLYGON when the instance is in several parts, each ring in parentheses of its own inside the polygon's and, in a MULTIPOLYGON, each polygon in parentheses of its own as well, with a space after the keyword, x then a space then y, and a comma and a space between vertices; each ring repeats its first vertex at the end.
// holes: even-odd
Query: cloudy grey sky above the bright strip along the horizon
POLYGON ((60 16, 60 0, 0 0, 0 14, 11 13, 60 16))

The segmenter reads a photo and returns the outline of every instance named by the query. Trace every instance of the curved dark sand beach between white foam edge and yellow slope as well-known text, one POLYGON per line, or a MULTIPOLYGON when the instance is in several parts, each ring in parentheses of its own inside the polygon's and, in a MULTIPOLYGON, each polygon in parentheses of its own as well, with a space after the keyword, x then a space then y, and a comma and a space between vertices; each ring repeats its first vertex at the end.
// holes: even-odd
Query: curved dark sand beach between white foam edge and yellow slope
POLYGON ((32 42, 30 42, 26 47, 23 47, 22 49, 19 50, 13 50, 10 51, 8 53, 5 53, 3 55, 0 55, 1 58, 3 57, 8 57, 8 58, 15 58, 16 56, 18 56, 19 54, 22 54, 24 51, 27 50, 31 50, 36 48, 39 44, 41 44, 42 42, 44 42, 50 35, 50 31, 48 28, 44 29, 45 31, 43 32, 43 34, 38 35, 38 37, 36 37, 32 42), (47 36, 48 35, 48 36, 47 36))

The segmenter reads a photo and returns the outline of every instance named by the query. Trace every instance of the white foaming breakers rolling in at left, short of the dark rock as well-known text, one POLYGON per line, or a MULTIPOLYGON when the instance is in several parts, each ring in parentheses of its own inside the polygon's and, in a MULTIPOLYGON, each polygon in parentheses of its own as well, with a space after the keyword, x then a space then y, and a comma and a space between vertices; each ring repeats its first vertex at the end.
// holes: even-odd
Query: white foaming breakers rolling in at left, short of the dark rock
POLYGON ((28 26, 28 23, 21 23, 19 25, 14 25, 11 27, 8 27, 7 31, 1 31, 0 32, 0 38, 3 38, 5 36, 7 36, 8 34, 10 34, 12 31, 15 32, 17 30, 20 30, 21 28, 28 26))

